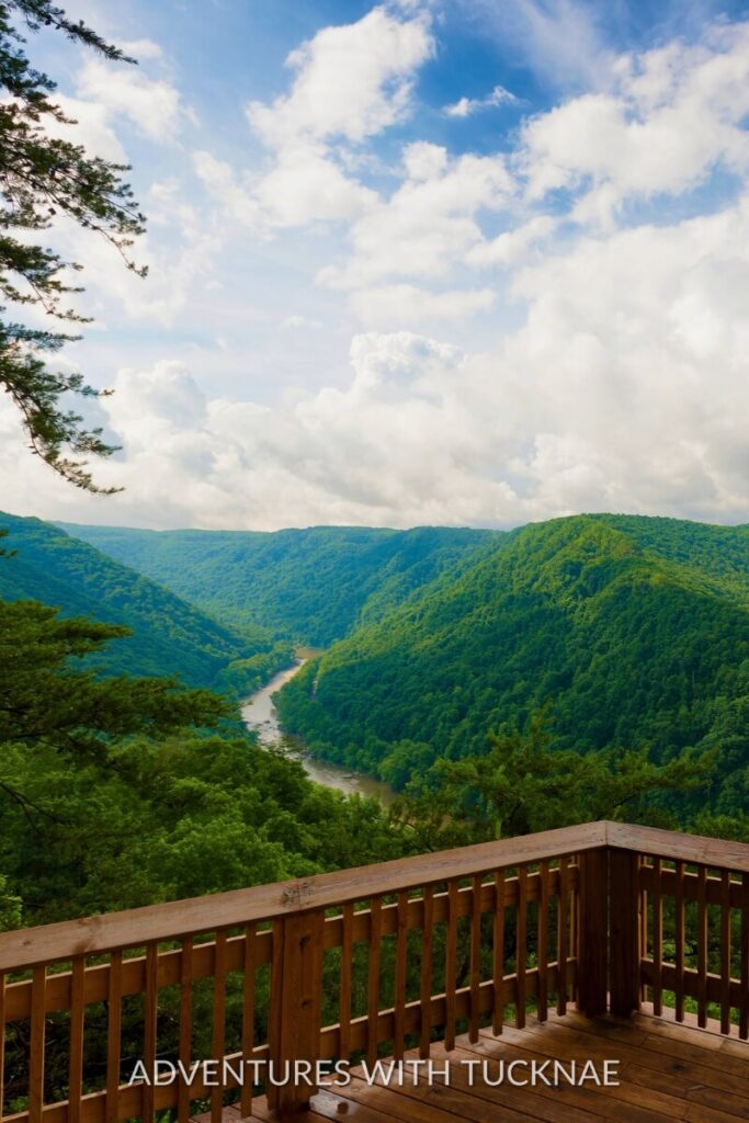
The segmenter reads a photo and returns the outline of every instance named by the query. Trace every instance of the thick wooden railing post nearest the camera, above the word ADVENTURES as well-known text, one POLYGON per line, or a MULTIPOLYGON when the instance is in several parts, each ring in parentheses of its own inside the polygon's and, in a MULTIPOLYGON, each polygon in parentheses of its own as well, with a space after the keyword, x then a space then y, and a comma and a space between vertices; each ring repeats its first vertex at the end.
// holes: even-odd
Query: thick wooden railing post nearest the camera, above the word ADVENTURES
POLYGON ((309 1107, 320 1056, 325 911, 294 913, 273 924, 268 1105, 278 1119, 309 1107), (304 1062, 311 1066, 304 1075, 304 1062))

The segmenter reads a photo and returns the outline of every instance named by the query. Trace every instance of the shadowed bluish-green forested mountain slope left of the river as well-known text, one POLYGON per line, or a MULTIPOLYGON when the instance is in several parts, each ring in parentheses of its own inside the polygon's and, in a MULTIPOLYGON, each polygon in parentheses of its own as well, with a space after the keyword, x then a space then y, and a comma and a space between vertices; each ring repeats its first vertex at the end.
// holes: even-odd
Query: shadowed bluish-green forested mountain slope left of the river
POLYGON ((249 692, 290 661, 289 646, 274 646, 263 629, 227 628, 58 527, 0 514, 2 529, 15 555, 0 557, 0 599, 37 600, 133 631, 97 654, 107 673, 179 675, 191 686, 249 692))

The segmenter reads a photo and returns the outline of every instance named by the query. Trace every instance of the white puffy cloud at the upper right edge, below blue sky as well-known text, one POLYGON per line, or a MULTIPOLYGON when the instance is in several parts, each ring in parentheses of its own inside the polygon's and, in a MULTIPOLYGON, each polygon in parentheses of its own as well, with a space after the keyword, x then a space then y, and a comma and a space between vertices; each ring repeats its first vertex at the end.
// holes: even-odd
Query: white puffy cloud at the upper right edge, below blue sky
POLYGON ((746 174, 749 25, 689 47, 622 57, 612 88, 532 118, 519 154, 532 199, 565 188, 594 193, 576 217, 611 218, 630 198, 678 194, 722 164, 746 174))

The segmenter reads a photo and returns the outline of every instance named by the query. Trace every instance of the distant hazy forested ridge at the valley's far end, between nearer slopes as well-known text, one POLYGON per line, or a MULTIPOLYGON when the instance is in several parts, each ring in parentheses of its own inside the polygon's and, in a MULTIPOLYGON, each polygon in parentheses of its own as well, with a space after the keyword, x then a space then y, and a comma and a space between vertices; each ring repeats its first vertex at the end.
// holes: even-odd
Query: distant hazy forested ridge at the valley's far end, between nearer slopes
POLYGON ((448 527, 266 533, 63 526, 226 624, 259 624, 312 647, 327 647, 360 620, 378 619, 504 537, 448 527))

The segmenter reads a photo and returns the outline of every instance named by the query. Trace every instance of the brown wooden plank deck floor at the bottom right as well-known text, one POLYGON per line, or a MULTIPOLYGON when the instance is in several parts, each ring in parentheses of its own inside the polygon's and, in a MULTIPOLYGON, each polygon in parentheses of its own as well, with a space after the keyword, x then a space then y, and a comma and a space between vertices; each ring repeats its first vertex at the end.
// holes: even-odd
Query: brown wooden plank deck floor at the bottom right
MULTIPOLYGON (((409 1054, 414 1057, 415 1053, 409 1054)), ((440 1047, 433 1060, 448 1054, 440 1047)), ((710 1030, 676 1025, 673 1021, 638 1015, 629 1022, 611 1017, 593 1021, 577 1013, 550 1016, 540 1025, 530 1021, 523 1030, 505 1028, 501 1038, 482 1032, 476 1044, 459 1038, 449 1053, 450 1086, 437 1080, 431 1087, 410 1083, 403 1087, 367 1084, 354 1076, 348 1087, 319 1093, 309 1112, 299 1116, 309 1123, 350 1119, 357 1123, 736 1123, 749 1120, 749 1044, 723 1038, 710 1030), (520 1088, 468 1086, 469 1066, 456 1061, 476 1058, 532 1060, 547 1058, 601 1065, 616 1059, 619 1087, 520 1088)), ((356 1074, 356 1070, 353 1070, 356 1074)), ((268 1119, 263 1101, 254 1113, 268 1119)), ((225 1123, 238 1123, 239 1111, 225 1110, 225 1123)), ((200 1116, 200 1123, 207 1116, 200 1116)))

